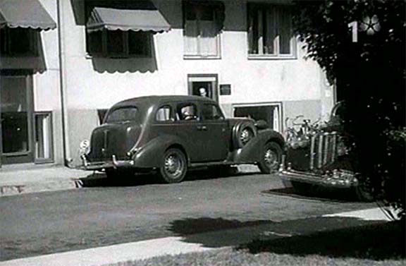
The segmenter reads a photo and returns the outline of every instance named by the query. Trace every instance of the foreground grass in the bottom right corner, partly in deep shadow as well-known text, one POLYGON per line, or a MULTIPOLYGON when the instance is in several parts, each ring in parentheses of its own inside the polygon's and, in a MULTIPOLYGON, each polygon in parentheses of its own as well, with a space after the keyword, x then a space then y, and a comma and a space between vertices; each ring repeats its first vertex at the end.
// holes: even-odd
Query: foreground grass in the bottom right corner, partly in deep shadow
POLYGON ((403 223, 389 222, 109 266, 403 266, 404 233, 403 223))

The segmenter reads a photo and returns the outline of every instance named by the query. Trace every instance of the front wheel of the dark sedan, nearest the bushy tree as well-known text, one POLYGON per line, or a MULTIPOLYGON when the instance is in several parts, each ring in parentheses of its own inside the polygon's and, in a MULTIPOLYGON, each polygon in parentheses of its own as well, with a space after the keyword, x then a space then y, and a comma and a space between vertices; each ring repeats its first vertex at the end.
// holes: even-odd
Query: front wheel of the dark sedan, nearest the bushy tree
POLYGON ((281 164, 282 149, 277 143, 266 143, 259 158, 258 167, 264 174, 278 171, 281 164))

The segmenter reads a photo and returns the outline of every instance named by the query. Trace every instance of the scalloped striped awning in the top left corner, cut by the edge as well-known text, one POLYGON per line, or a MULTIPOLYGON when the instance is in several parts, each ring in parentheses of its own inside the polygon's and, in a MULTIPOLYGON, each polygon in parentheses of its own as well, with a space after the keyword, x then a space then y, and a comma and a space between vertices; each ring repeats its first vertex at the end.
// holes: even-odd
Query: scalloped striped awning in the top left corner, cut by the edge
POLYGON ((53 30, 56 23, 38 0, 0 0, 0 28, 4 27, 53 30))

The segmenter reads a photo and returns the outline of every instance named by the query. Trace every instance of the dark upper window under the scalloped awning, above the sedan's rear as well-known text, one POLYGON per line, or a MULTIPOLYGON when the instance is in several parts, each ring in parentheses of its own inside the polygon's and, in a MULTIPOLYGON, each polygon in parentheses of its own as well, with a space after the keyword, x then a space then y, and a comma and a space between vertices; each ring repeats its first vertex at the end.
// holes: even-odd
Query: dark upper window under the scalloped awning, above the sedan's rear
POLYGON ((87 32, 87 54, 101 57, 149 57, 152 33, 143 31, 97 30, 87 32))

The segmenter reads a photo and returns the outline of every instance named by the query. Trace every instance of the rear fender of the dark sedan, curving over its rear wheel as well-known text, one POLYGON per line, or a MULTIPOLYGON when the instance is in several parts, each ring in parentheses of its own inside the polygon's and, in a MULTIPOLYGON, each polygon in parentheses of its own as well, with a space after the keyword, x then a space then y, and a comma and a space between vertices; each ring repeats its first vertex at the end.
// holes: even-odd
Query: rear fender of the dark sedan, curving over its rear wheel
MULTIPOLYGON (((161 167, 162 156, 164 156, 164 152, 171 146, 178 147, 185 152, 184 147, 186 146, 184 141, 176 135, 160 135, 154 138, 137 150, 133 156, 134 167, 161 167)), ((187 157, 186 152, 185 156, 187 157)))

